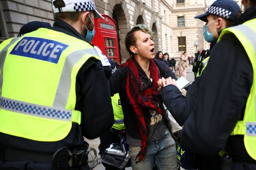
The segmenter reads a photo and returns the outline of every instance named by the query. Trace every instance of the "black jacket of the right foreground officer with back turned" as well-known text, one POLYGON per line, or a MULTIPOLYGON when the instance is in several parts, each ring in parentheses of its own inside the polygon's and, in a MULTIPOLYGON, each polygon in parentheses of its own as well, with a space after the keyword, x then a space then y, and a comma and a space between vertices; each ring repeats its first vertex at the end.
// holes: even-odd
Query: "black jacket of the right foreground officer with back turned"
MULTIPOLYGON (((256 18, 256 6, 236 22, 256 18)), ((192 113, 184 124, 181 145, 193 152, 214 155, 226 149, 234 161, 253 162, 243 136, 230 136, 244 109, 252 86, 252 65, 233 34, 224 35, 211 52, 192 113), (216 69, 218 67, 218 69, 216 69)))

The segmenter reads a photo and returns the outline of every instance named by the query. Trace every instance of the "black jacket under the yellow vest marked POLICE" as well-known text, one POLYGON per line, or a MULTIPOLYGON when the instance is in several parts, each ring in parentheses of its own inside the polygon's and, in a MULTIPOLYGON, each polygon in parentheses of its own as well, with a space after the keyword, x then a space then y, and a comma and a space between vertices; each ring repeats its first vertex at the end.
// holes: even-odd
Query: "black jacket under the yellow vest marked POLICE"
MULTIPOLYGON (((73 27, 61 20, 57 20, 51 29, 85 40, 73 27)), ((56 142, 39 142, 0 133, 0 146, 53 154, 64 146, 83 145, 83 136, 89 139, 98 138, 114 123, 107 80, 110 75, 110 67, 102 67, 101 61, 94 58, 88 59, 81 67, 76 76, 75 110, 82 112, 82 121, 81 125, 73 123, 66 138, 56 142)), ((51 163, 40 164, 33 161, 3 163, 0 159, 0 169, 14 167, 17 169, 51 169, 51 163)))

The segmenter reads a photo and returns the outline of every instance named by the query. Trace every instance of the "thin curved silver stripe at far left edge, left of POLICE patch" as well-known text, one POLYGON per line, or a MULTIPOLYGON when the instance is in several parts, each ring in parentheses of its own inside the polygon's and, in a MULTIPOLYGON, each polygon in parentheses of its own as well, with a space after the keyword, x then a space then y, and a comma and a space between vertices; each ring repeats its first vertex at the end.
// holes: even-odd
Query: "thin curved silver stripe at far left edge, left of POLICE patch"
POLYGON ((3 87, 3 73, 4 73, 4 61, 5 61, 5 58, 6 58, 6 55, 7 55, 7 51, 8 51, 8 48, 13 44, 15 43, 18 39, 20 39, 20 37, 16 37, 14 39, 12 39, 10 41, 9 44, 7 44, 0 52, 0 70, 1 70, 1 74, 0 74, 0 88, 1 88, 1 91, 0 91, 0 96, 2 95, 2 87, 3 87))

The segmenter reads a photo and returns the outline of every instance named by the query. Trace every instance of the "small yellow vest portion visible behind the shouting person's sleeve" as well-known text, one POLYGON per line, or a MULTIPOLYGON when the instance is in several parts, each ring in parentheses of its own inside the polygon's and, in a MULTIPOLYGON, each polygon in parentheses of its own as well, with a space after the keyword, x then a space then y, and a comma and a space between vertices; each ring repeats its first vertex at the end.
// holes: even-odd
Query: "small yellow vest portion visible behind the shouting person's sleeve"
POLYGON ((112 101, 112 107, 113 107, 114 117, 115 117, 115 122, 112 127, 119 130, 125 129, 124 113, 122 110, 119 94, 116 93, 113 97, 111 97, 111 101, 112 101))

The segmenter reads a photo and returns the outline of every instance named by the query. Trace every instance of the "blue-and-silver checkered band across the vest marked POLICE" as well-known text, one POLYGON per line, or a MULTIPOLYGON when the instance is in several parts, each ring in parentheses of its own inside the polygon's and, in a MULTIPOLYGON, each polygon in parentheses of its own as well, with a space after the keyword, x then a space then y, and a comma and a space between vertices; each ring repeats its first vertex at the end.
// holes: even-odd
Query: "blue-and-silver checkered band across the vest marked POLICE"
POLYGON ((27 103, 5 97, 0 97, 0 108, 16 113, 64 121, 70 121, 72 115, 72 110, 27 103))

